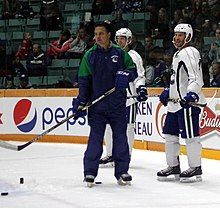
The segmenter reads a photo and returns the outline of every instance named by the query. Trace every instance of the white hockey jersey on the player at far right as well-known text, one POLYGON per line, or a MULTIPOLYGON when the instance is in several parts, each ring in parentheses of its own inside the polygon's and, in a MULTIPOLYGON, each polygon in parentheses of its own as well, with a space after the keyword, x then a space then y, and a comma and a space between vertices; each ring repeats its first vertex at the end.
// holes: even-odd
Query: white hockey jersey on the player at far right
MULTIPOLYGON (((182 99, 188 92, 195 92, 199 96, 198 102, 205 104, 201 89, 204 83, 199 51, 191 46, 177 51, 171 69, 169 98, 182 99)), ((181 108, 179 103, 168 102, 168 112, 176 112, 181 108)))

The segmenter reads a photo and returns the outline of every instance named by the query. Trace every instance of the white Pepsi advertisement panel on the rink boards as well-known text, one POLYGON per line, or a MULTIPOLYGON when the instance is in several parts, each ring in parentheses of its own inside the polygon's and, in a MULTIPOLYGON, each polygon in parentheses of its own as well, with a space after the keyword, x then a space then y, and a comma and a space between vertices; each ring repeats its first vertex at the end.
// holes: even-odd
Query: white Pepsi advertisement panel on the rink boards
MULTIPOLYGON (((1 98, 0 132, 2 134, 40 134, 69 117, 70 97, 1 98)), ((86 117, 69 119, 50 135, 88 135, 86 117)))

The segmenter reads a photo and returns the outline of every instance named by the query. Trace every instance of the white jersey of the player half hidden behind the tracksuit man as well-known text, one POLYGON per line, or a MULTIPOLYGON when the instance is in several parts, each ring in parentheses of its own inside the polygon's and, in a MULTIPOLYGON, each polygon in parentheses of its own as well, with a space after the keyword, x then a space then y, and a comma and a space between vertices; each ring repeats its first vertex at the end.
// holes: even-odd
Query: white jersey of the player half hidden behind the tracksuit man
MULTIPOLYGON (((128 54, 131 56, 133 62, 135 63, 138 73, 138 77, 134 80, 134 82, 129 83, 129 88, 127 89, 127 96, 129 97, 137 95, 136 89, 140 85, 145 85, 146 78, 141 56, 135 50, 128 51, 128 54)), ((135 102, 137 102, 136 98, 128 98, 126 106, 132 105, 135 102)))

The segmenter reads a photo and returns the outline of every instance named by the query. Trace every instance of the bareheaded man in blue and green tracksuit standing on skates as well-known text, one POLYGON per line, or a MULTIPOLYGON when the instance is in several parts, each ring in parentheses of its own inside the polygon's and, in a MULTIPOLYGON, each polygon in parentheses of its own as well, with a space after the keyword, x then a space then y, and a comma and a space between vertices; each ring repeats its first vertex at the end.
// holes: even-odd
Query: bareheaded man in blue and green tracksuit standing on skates
POLYGON ((137 77, 136 67, 122 48, 110 41, 110 27, 106 22, 95 26, 96 45, 84 55, 79 69, 79 95, 73 99, 73 112, 115 87, 115 91, 88 109, 90 135, 84 154, 84 181, 93 186, 103 152, 106 124, 113 131, 113 158, 118 184, 129 184, 129 149, 126 129, 126 88, 137 77))

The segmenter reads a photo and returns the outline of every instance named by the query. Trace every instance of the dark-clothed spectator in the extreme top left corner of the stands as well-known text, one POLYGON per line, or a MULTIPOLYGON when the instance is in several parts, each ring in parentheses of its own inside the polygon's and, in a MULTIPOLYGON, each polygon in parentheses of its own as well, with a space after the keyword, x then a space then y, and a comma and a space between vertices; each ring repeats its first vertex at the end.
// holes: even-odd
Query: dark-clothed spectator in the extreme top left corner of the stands
POLYGON ((3 0, 2 18, 3 19, 18 18, 19 8, 20 8, 19 0, 3 0))

